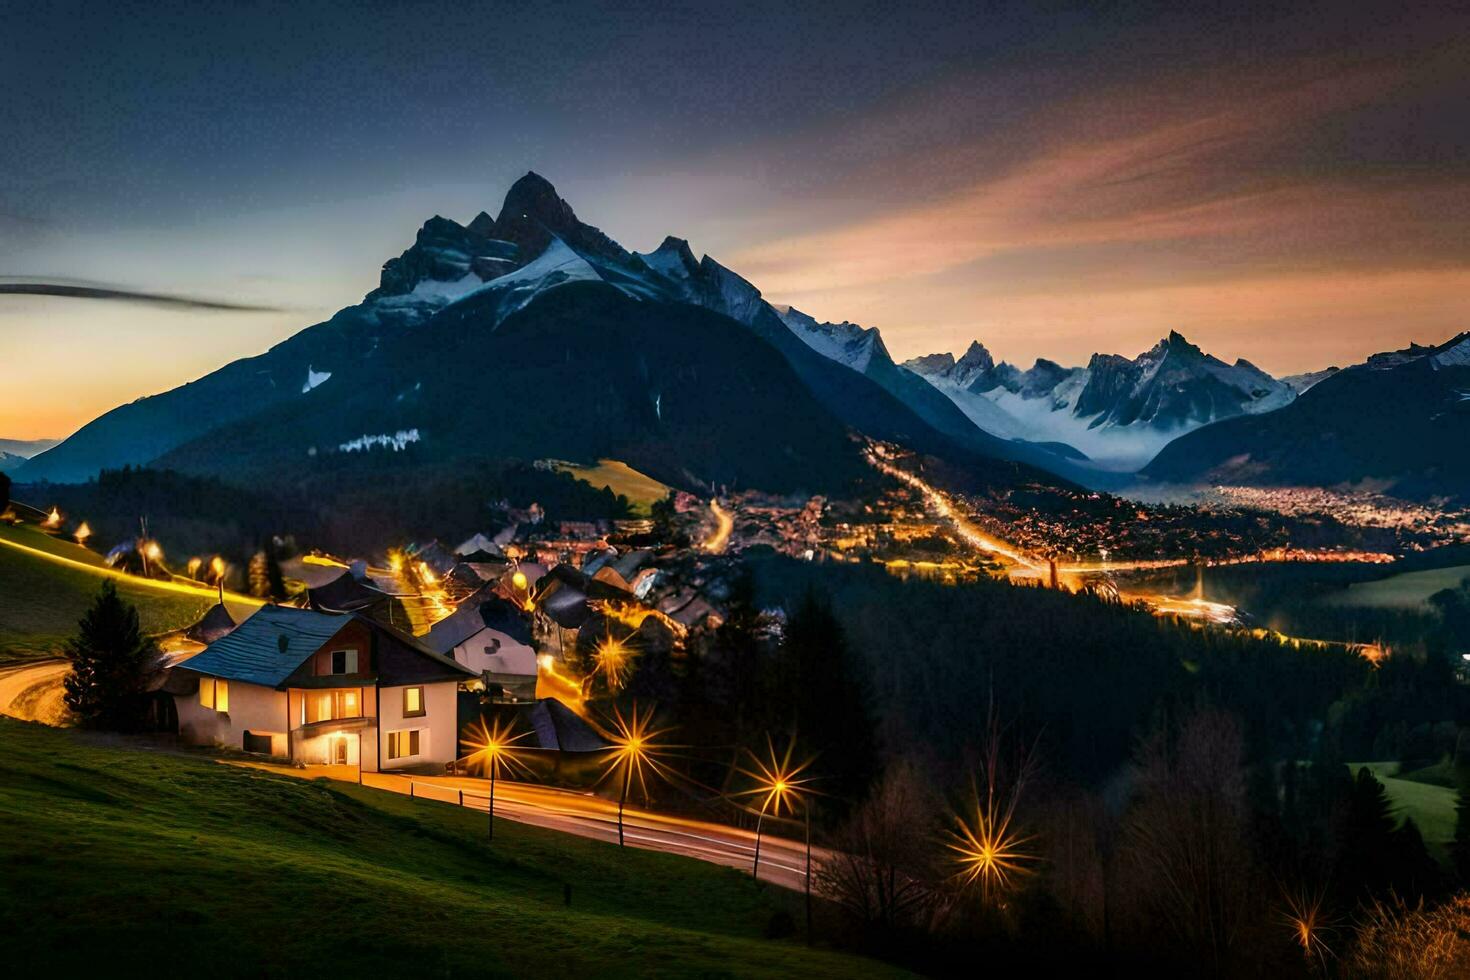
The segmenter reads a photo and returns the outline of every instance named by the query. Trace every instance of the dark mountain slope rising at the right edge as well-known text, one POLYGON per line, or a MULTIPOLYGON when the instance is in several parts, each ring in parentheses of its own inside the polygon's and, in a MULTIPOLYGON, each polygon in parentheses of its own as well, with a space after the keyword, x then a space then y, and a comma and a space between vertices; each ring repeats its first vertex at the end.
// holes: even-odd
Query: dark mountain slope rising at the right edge
POLYGON ((1291 406, 1191 432, 1144 469, 1166 482, 1373 485, 1407 498, 1470 498, 1470 334, 1376 354, 1291 406))

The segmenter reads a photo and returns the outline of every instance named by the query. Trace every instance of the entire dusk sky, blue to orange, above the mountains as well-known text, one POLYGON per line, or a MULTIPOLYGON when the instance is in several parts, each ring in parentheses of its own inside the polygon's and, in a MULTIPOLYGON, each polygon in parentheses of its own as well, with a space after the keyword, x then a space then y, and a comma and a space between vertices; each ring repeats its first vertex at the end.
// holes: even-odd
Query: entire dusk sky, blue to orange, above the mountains
POLYGON ((1442 342, 1470 13, 1410 6, 12 6, 0 278, 272 309, 0 295, 0 436, 263 351, 528 169, 895 359, 1442 342))

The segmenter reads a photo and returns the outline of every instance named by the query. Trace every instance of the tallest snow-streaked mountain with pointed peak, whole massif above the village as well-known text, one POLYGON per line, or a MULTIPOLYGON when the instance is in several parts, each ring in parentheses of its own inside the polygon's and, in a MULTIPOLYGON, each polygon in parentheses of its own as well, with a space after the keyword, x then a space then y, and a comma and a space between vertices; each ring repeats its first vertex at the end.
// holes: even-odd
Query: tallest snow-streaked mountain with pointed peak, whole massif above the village
POLYGON ((681 485, 831 489, 867 472, 851 430, 980 479, 1050 479, 1026 461, 1064 469, 976 429, 873 339, 860 370, 831 360, 709 256, 676 238, 626 251, 528 173, 495 217, 426 222, 362 303, 115 408, 18 479, 125 463, 254 480, 379 455, 610 455, 681 485))

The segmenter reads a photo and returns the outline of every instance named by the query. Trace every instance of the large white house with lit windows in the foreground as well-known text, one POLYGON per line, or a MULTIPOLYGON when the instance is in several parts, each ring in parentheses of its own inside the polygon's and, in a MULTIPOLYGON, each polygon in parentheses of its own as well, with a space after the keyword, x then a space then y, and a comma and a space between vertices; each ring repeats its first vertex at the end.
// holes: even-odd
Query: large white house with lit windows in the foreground
POLYGON ((173 667, 179 736, 307 765, 442 770, 476 674, 357 613, 266 605, 173 667))

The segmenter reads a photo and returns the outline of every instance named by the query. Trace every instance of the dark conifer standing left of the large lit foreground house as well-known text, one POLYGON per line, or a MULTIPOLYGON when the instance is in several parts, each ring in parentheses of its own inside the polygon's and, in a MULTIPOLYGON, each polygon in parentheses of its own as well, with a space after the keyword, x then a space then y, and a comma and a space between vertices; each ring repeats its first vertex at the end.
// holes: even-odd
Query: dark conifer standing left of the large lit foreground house
POLYGON ((153 639, 138 626, 138 610, 109 580, 66 642, 72 661, 66 707, 85 727, 137 732, 148 713, 148 682, 162 667, 153 639))

